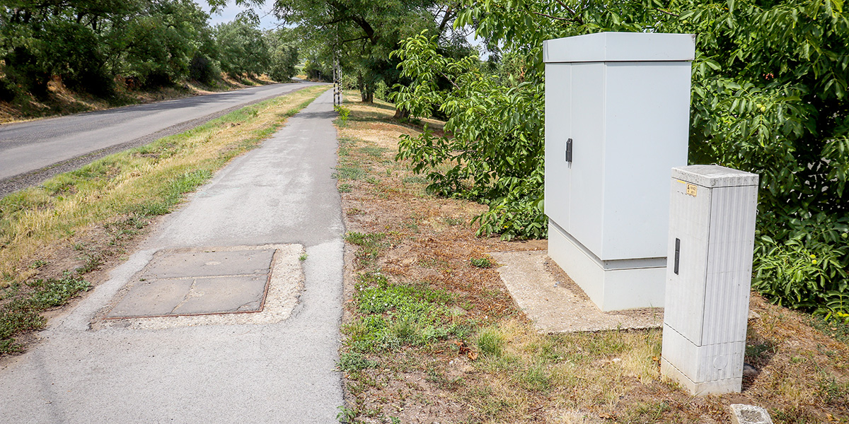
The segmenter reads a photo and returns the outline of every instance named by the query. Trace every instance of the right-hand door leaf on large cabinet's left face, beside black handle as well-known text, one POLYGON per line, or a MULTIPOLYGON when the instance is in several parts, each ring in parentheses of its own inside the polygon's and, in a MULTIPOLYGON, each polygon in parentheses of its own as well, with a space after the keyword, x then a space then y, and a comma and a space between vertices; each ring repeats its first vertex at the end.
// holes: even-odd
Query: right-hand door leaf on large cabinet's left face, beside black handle
POLYGON ((572 64, 570 220, 567 232, 597 257, 604 201, 604 64, 572 64))

